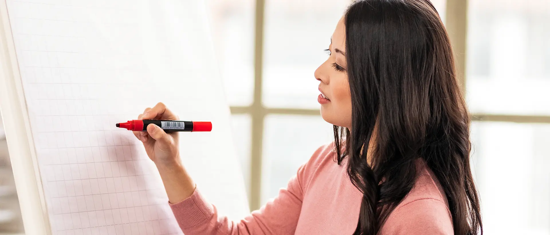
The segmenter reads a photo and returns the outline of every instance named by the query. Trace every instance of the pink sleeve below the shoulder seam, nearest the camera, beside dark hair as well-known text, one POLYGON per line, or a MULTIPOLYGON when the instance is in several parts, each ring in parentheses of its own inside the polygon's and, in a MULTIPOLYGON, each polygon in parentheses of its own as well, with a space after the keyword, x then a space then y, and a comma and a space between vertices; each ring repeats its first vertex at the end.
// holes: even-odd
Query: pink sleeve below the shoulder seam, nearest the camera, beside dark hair
POLYGON ((453 235, 453 221, 445 203, 422 198, 395 208, 379 234, 453 235))

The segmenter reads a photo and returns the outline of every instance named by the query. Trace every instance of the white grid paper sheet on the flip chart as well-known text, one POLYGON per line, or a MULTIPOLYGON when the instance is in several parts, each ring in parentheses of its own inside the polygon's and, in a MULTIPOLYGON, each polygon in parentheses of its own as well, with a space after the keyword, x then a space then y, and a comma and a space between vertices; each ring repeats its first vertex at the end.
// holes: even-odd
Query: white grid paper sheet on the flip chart
POLYGON ((180 134, 183 162, 221 213, 247 214, 202 1, 7 4, 52 234, 182 233, 141 142, 114 126, 159 101, 213 122, 180 134))

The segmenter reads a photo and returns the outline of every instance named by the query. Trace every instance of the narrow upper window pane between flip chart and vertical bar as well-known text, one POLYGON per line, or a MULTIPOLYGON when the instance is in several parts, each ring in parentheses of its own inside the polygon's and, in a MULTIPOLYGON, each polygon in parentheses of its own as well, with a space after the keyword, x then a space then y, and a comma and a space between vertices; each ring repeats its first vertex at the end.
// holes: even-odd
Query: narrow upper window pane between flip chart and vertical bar
POLYGON ((207 0, 211 33, 229 105, 252 104, 254 0, 207 0))

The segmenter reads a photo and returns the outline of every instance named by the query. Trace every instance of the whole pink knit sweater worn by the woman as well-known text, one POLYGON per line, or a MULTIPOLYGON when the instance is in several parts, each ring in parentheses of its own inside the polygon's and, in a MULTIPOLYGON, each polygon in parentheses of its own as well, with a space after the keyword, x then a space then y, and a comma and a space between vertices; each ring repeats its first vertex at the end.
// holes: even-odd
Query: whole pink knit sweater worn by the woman
MULTIPOLYGON (((219 216, 198 190, 172 211, 186 235, 353 234, 362 194, 333 161, 333 145, 319 148, 287 188, 240 221, 219 216)), ((379 235, 454 234, 447 199, 422 161, 414 188, 389 215, 379 235)))

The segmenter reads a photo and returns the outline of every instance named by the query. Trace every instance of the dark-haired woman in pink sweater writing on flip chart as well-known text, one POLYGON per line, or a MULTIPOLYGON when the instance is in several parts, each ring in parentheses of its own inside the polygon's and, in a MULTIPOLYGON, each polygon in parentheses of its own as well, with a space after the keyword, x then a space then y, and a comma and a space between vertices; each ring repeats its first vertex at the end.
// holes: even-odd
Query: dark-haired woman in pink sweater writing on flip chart
MULTIPOLYGON (((334 144, 239 222, 179 161, 178 135, 135 133, 156 163, 180 227, 193 234, 477 234, 469 114, 449 38, 428 0, 362 0, 346 10, 315 71, 334 144)), ((164 105, 139 118, 178 119, 164 105)))

